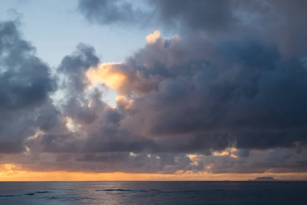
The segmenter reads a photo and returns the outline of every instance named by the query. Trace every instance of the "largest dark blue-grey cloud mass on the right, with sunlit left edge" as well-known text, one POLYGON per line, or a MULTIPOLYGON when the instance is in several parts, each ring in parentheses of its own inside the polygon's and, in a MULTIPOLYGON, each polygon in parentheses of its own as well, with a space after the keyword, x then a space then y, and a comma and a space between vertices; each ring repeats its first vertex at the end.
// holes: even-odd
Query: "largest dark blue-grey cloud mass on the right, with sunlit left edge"
MULTIPOLYGON (((306 83, 301 59, 282 58, 275 45, 260 39, 215 42, 196 35, 190 42, 165 42, 160 36, 124 63, 93 68, 97 75, 116 71, 125 80, 120 86, 107 86, 122 94, 117 97, 118 110, 111 109, 121 117, 99 134, 104 137, 93 135, 85 150, 196 153, 210 158, 213 151, 236 147, 237 156, 249 158, 250 150, 305 146, 306 98, 297 92, 305 90, 306 83), (130 77, 135 73, 141 78, 130 77), (152 79, 155 86, 146 90, 135 86, 152 79)), ((96 82, 105 84, 104 79, 96 82)), ((233 156, 212 156, 216 162, 200 165, 210 164, 212 172, 214 164, 214 173, 262 172, 270 167, 237 169, 233 156), (224 169, 226 162, 230 164, 224 169)), ((301 170, 295 168, 295 160, 292 163, 293 169, 280 165, 275 170, 301 170)))

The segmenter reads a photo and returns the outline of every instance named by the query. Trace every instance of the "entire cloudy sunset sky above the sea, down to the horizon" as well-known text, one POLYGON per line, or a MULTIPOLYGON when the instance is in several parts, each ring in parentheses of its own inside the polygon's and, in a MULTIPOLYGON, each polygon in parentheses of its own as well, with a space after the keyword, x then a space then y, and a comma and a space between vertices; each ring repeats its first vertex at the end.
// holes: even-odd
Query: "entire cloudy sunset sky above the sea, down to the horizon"
POLYGON ((0 4, 0 181, 307 179, 306 2, 0 4))

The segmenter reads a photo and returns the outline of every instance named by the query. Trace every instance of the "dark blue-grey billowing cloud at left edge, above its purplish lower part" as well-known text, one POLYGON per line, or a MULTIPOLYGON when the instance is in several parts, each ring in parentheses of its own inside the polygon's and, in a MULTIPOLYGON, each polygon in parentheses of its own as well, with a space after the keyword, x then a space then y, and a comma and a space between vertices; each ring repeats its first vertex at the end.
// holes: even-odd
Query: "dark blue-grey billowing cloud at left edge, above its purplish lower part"
POLYGON ((35 56, 17 24, 0 22, 0 106, 8 110, 39 105, 56 89, 48 65, 35 56))

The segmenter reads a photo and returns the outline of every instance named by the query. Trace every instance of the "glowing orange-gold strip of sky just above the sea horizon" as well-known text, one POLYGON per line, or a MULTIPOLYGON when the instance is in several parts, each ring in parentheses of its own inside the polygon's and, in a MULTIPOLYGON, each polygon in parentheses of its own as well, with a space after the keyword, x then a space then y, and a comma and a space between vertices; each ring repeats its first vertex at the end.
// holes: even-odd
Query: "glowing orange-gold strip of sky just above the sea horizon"
MULTIPOLYGON (((4 165, 2 165, 4 167, 4 165)), ((184 180, 248 180, 259 176, 272 176, 279 180, 307 180, 307 173, 264 173, 264 174, 211 174, 208 172, 193 173, 177 171, 174 174, 145 173, 89 173, 89 172, 31 172, 14 170, 13 165, 5 165, 9 169, 0 169, 0 181, 184 181, 184 180)))

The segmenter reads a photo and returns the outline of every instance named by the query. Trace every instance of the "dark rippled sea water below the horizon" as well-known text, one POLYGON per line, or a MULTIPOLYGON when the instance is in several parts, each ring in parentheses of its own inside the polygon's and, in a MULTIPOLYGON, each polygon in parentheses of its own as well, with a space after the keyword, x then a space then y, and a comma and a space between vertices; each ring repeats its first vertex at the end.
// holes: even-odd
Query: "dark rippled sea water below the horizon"
POLYGON ((0 182, 3 204, 307 204, 307 182, 0 182))

